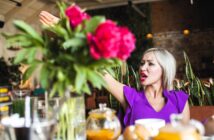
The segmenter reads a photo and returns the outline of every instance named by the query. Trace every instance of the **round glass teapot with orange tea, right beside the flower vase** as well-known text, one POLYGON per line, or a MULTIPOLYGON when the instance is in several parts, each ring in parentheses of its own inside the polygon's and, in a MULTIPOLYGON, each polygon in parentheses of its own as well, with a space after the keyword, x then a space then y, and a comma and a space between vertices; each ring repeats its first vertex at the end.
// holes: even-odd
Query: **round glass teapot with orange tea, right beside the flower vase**
POLYGON ((87 140, 113 140, 121 133, 121 125, 115 110, 99 104, 99 109, 89 112, 86 121, 87 140))

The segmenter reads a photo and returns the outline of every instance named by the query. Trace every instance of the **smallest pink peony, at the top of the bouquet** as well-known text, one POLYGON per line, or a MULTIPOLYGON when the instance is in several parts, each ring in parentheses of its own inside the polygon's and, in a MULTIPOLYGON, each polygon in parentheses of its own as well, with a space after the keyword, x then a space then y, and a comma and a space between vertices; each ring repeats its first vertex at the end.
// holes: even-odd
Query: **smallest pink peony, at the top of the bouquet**
POLYGON ((77 25, 82 23, 83 20, 89 19, 90 16, 81 11, 81 8, 76 5, 72 5, 65 10, 66 16, 69 18, 70 25, 75 28, 77 25))

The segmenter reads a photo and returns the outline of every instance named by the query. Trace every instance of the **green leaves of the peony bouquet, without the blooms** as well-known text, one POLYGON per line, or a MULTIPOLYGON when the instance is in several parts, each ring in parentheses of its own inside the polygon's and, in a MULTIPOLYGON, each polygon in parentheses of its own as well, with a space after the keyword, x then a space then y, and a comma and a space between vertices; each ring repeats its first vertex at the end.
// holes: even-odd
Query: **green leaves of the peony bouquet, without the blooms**
POLYGON ((94 32, 105 21, 105 17, 94 16, 84 22, 84 28, 80 24, 72 30, 64 14, 65 7, 59 4, 60 21, 56 25, 43 27, 42 34, 23 21, 15 21, 14 25, 20 33, 4 36, 10 45, 19 43, 22 47, 14 63, 29 66, 24 80, 39 69, 40 83, 45 89, 51 90, 51 95, 63 95, 67 88, 78 94, 90 94, 89 83, 99 89, 105 84, 99 72, 118 66, 121 62, 118 59, 94 61, 89 57, 86 33, 94 32), (36 57, 38 53, 42 54, 42 58, 36 57))

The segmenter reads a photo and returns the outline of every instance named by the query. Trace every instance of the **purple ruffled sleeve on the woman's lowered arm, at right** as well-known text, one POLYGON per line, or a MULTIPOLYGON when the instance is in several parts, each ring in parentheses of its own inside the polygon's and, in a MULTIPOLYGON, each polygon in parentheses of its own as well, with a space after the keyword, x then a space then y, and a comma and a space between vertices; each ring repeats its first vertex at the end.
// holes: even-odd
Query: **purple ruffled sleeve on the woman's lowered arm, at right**
POLYGON ((184 107, 186 105, 186 102, 188 102, 189 95, 185 93, 184 91, 175 91, 174 95, 177 100, 177 108, 179 113, 182 113, 184 110, 184 107))

